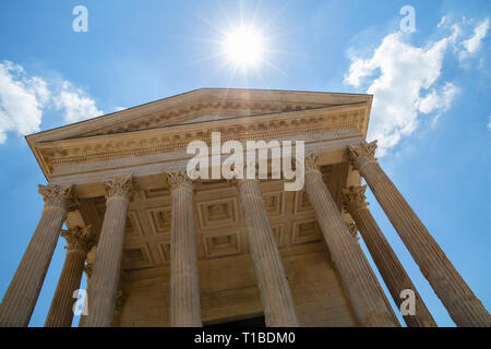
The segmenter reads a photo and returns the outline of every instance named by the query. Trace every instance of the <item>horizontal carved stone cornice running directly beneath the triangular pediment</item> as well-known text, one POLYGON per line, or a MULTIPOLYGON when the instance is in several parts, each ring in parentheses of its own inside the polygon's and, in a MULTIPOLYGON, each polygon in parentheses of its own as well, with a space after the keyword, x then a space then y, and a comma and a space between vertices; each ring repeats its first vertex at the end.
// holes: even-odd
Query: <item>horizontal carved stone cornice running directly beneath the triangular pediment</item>
POLYGON ((38 159, 49 178, 55 167, 115 158, 147 156, 185 149, 194 140, 209 142, 212 132, 228 140, 273 140, 301 134, 357 129, 366 133, 368 105, 325 107, 254 117, 168 125, 155 129, 103 134, 36 144, 38 159))

